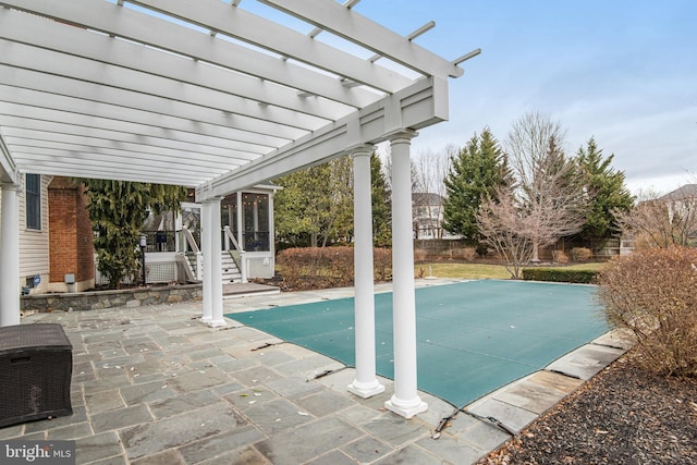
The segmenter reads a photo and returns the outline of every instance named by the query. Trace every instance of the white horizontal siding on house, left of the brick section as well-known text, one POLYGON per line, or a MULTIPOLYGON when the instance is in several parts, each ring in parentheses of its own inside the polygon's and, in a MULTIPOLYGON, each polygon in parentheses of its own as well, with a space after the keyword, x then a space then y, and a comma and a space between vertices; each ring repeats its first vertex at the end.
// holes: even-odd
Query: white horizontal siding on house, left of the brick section
POLYGON ((52 176, 41 175, 41 230, 26 228, 25 186, 19 192, 20 204, 20 282, 25 284, 26 278, 41 277, 41 283, 33 293, 41 293, 49 283, 49 237, 48 237, 48 183, 52 176))

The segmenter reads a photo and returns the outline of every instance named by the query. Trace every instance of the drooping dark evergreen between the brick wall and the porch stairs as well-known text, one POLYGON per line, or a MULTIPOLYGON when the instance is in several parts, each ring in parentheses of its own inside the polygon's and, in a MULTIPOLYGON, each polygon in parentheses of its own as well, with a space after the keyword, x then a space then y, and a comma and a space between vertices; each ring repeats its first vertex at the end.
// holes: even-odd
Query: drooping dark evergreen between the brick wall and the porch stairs
POLYGON ((117 289, 124 278, 137 281, 140 229, 148 209, 156 213, 179 210, 186 199, 181 186, 111 180, 80 180, 87 189, 87 209, 95 231, 99 271, 117 289))

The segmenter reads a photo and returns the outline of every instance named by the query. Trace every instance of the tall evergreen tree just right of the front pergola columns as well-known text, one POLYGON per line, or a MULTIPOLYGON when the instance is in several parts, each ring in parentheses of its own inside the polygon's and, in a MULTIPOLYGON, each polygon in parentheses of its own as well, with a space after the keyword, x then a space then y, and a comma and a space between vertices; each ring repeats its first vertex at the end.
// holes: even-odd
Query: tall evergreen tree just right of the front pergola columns
POLYGON ((476 215, 487 197, 493 197, 498 186, 512 182, 508 159, 489 127, 476 133, 453 157, 451 171, 444 180, 447 199, 443 208, 445 231, 460 234, 473 245, 481 236, 476 215))

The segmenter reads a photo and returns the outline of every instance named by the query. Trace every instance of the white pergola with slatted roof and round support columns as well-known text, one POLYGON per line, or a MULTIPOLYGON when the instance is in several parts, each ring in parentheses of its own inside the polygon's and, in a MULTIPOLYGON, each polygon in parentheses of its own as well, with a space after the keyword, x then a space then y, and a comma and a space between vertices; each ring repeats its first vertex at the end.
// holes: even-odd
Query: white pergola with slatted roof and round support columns
MULTIPOLYGON (((448 119, 449 61, 356 13, 357 0, 0 0, 0 326, 20 322, 23 173, 196 187, 204 315, 224 325, 220 199, 350 154, 355 168, 356 379, 375 375, 369 156, 389 142, 393 188, 394 395, 416 389, 409 144, 448 119), (289 27, 284 24, 293 24, 289 27), (321 36, 319 36, 321 33, 321 36), (325 39, 325 40, 321 40, 325 39), (344 46, 347 45, 347 46, 344 46)), ((399 8, 395 5, 395 8, 399 8)))

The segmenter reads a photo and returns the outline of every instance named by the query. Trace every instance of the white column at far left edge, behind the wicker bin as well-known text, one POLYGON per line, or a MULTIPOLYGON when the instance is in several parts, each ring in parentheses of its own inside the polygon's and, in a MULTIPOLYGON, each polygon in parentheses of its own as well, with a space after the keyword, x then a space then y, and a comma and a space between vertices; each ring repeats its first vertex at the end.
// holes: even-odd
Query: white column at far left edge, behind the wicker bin
POLYGON ((17 184, 2 184, 0 327, 20 325, 20 207, 17 184))

